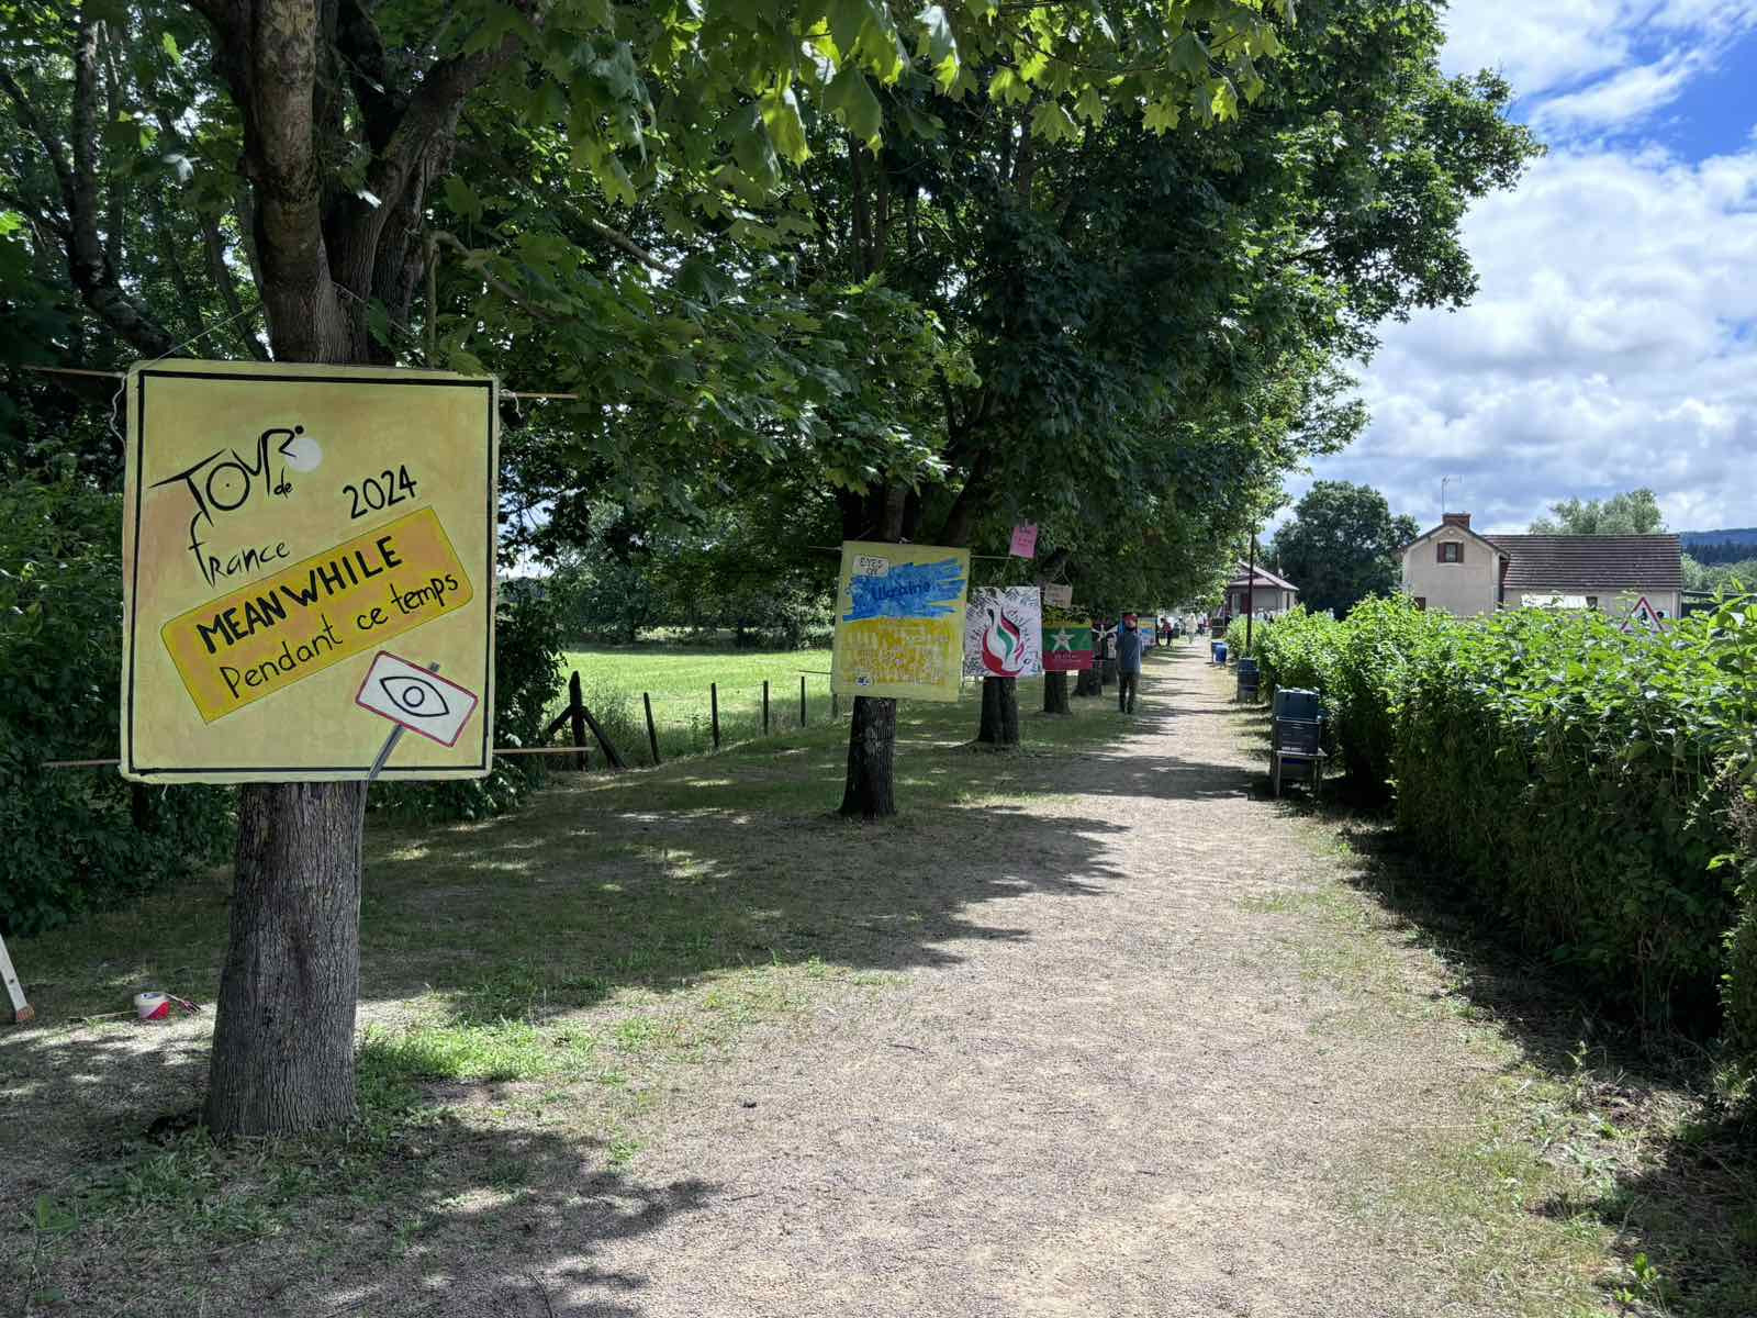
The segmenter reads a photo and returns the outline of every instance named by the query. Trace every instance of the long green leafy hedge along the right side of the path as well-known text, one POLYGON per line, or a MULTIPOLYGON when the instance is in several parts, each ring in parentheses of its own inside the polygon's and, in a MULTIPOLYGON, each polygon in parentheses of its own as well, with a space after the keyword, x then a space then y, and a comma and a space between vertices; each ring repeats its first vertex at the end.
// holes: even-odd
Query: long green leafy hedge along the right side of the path
POLYGON ((1525 949, 1757 1058, 1757 617, 1293 613, 1265 684, 1323 692, 1348 773, 1525 949))

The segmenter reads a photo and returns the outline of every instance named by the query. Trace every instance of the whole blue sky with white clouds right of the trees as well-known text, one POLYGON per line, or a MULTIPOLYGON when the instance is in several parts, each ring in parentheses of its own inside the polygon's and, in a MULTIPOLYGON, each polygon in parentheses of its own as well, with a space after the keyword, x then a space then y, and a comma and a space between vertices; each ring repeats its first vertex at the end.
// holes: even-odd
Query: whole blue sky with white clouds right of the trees
MULTIPOLYGON (((1499 67, 1550 153, 1479 202, 1464 311, 1386 325, 1372 411, 1291 478, 1523 531, 1650 487, 1673 531, 1757 525, 1757 0, 1451 0, 1446 72, 1499 67)), ((1286 513, 1281 515, 1283 518, 1286 513)))

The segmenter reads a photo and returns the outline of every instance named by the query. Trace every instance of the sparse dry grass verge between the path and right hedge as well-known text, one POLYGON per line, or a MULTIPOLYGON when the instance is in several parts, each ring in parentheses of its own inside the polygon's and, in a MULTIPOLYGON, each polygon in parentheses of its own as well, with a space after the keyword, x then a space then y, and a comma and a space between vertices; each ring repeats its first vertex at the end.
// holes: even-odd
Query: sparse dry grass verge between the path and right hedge
POLYGON ((1327 1028, 1407 1037, 1413 1056, 1448 1032, 1481 1063, 1432 1125, 1385 1132, 1339 1202, 1432 1260, 1437 1300, 1460 1313, 1757 1314, 1757 1130, 1701 1051, 1630 1039, 1497 949, 1383 821, 1339 831, 1290 810, 1344 870, 1246 909, 1298 916, 1302 974, 1363 989, 1327 1028))

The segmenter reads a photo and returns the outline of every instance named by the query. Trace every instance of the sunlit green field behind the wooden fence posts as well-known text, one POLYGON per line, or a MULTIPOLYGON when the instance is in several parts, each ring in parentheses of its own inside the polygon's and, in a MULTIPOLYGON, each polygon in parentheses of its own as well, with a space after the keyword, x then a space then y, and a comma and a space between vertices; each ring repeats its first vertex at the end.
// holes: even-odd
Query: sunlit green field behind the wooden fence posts
MULTIPOLYGON (((652 696, 664 759, 713 749, 710 684, 719 685, 720 745, 763 733, 763 682, 770 684, 770 728, 799 728, 799 678, 806 684, 806 728, 829 721, 829 650, 712 650, 680 645, 594 645, 562 657, 562 691, 578 673, 585 705, 631 764, 650 761, 641 692, 652 696), (803 670, 803 671, 801 671, 803 670)), ((847 713, 847 703, 842 703, 847 713)))

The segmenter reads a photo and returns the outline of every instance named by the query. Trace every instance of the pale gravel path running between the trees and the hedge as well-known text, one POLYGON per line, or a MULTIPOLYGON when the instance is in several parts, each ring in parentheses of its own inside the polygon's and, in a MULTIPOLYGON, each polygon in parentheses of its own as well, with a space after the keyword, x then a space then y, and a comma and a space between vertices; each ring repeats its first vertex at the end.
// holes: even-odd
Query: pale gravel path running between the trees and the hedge
POLYGON ((1483 1058, 1455 1023, 1385 1009, 1428 988, 1388 944, 1390 982, 1383 963, 1312 972, 1335 933, 1304 898, 1342 861, 1253 796, 1225 675, 1191 647, 1144 692, 1047 810, 1110 824, 1088 872, 1030 875, 984 907, 1007 937, 947 942, 896 991, 708 1070, 633 1169, 682 1211, 645 1232, 557 1220, 532 1241, 560 1260, 546 1300, 503 1292, 504 1311, 1500 1313, 1455 1307, 1358 1207, 1483 1058))

